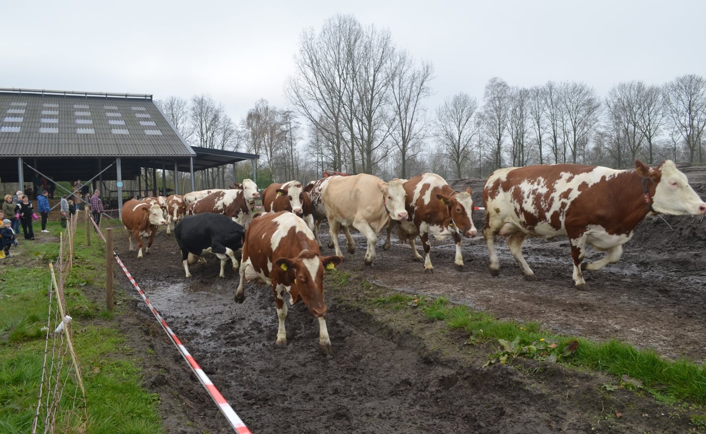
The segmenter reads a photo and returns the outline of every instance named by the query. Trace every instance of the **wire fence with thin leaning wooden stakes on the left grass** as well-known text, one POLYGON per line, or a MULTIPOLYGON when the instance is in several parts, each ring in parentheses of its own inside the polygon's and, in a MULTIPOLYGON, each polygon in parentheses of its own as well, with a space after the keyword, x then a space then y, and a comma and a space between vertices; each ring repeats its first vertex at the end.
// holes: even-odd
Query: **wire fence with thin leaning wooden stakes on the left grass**
POLYGON ((47 288, 49 299, 44 339, 42 381, 38 390, 37 409, 32 433, 85 433, 88 423, 85 388, 73 349, 71 316, 66 309, 64 282, 71 271, 73 237, 78 215, 68 219, 61 233, 56 267, 49 264, 52 282, 47 288))

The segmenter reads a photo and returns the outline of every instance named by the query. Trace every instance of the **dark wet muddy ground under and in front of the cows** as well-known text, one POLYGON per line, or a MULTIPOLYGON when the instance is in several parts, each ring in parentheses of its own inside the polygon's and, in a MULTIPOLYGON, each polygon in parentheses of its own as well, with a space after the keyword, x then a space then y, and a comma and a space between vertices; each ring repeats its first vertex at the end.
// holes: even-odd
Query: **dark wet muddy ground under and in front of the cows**
MULTIPOLYGON (((684 170, 706 197, 706 171, 684 170)), ((482 182, 452 185, 471 186, 481 206, 482 182)), ((483 219, 483 212, 474 214, 478 229, 483 219)), ((551 332, 598 341, 620 339, 700 363, 706 358, 702 220, 648 217, 620 263, 585 272, 590 291, 573 288, 566 240, 525 243, 537 276, 527 282, 503 241, 499 277, 489 275, 481 236, 463 241, 460 272, 453 267, 453 246, 436 242, 435 272, 427 275, 410 260, 409 246, 393 242, 383 251, 382 236, 375 266, 364 267, 364 239, 356 236, 357 252, 345 253, 339 267, 354 279, 326 294, 335 351, 330 358, 318 352, 318 325, 303 306, 289 310, 288 345, 275 346, 271 289, 248 284, 245 303, 234 303, 237 272, 227 267, 226 277, 217 277, 215 257, 192 266, 193 277, 185 279, 177 243, 163 229, 143 259, 128 251, 124 236, 116 237, 116 251, 253 433, 681 433, 694 428, 689 419, 696 410, 671 408, 621 387, 609 390, 620 379, 556 364, 481 368, 489 346, 469 346, 460 332, 440 333, 443 325, 414 308, 390 313, 362 299, 378 291, 443 296, 496 318, 534 321, 551 332), (361 289, 363 280, 382 289, 361 289)), ((328 248, 323 253, 332 254, 328 248)), ((162 396, 165 429, 231 431, 124 275, 117 281, 129 294, 122 328, 131 345, 144 350, 145 382, 162 396)))

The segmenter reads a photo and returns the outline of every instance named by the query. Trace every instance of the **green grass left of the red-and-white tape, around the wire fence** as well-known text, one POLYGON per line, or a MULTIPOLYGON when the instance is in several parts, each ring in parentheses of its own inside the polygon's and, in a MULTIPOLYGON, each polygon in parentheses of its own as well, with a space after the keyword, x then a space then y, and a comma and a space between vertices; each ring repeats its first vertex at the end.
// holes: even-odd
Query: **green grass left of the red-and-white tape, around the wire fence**
MULTIPOLYGON (((58 234, 58 223, 47 229, 58 234)), ((85 385, 86 400, 75 400, 76 385, 70 361, 59 370, 66 385, 56 427, 62 432, 160 433, 159 396, 140 386, 139 360, 116 328, 105 320, 119 320, 83 294, 86 287, 104 286, 104 245, 95 237, 85 246, 79 225, 73 269, 64 281, 68 313, 74 320, 73 344, 85 385), (80 324, 80 327, 76 325, 80 324), (85 419, 87 416, 88 420, 85 419)), ((20 238, 20 242, 21 242, 20 238)), ((58 243, 20 245, 25 265, 4 267, 0 292, 0 432, 28 433, 37 409, 49 311, 49 263, 59 255, 58 243)), ((52 300, 54 306, 56 300, 52 300)), ((53 328, 54 325, 50 325, 53 328)), ((53 339, 53 338, 50 338, 53 339)), ((49 358, 52 354, 49 342, 49 358)), ((43 386, 46 390, 47 385, 43 386)), ((80 390, 78 390, 80 395, 80 390)), ((41 416, 41 413, 40 413, 41 416)), ((40 417, 41 418, 41 417, 40 417)), ((40 430, 43 423, 40 421, 40 430)))

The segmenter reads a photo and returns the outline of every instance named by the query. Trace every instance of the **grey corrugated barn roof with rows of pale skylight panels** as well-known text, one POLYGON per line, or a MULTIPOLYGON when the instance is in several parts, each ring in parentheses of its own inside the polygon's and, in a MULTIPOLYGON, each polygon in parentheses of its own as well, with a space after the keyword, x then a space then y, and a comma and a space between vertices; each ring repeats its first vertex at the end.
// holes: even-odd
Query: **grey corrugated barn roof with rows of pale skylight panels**
POLYGON ((152 95, 0 89, 0 157, 189 157, 152 95))

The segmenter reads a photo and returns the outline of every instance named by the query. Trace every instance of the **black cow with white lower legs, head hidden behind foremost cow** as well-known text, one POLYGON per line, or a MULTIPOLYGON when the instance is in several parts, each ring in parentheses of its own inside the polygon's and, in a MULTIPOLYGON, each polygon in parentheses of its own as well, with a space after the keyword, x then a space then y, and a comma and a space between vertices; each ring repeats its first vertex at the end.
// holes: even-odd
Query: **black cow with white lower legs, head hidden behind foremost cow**
POLYGON ((220 259, 220 277, 225 277, 228 258, 232 260, 233 270, 238 269, 235 252, 243 248, 245 228, 230 217, 213 212, 189 215, 179 221, 174 235, 181 248, 181 263, 184 264, 186 277, 191 277, 189 264, 196 263, 196 260, 205 263, 205 259, 201 258, 205 253, 214 253, 220 259))

